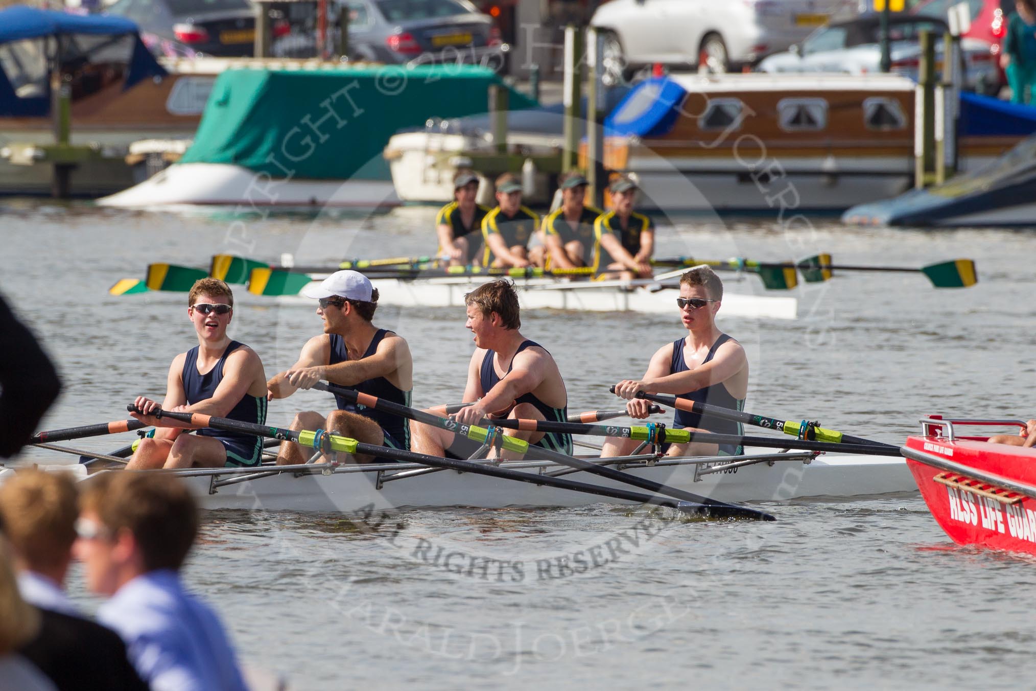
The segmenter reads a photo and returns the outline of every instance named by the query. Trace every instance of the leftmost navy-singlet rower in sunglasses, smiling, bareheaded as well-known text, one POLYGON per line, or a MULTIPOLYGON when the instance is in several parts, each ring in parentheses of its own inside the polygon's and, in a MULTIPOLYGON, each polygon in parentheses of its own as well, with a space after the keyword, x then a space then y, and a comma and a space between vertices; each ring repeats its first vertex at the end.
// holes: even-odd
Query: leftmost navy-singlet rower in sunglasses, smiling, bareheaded
MULTIPOLYGON (((227 336, 234 295, 223 281, 201 279, 188 294, 188 316, 198 345, 173 358, 163 410, 200 412, 253 425, 266 422, 266 373, 252 348, 227 336)), ((153 438, 140 440, 126 465, 131 469, 254 466, 262 459, 262 438, 206 428, 183 434, 189 425, 146 413, 160 406, 139 396, 131 413, 155 425, 153 438)))

